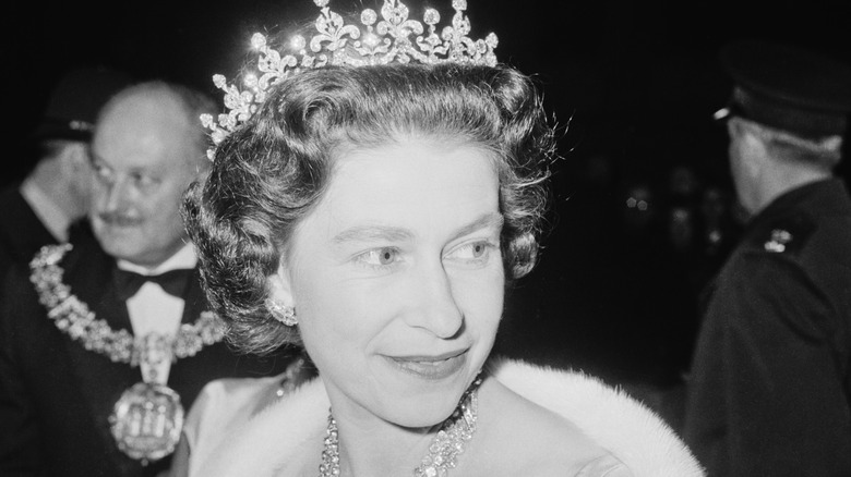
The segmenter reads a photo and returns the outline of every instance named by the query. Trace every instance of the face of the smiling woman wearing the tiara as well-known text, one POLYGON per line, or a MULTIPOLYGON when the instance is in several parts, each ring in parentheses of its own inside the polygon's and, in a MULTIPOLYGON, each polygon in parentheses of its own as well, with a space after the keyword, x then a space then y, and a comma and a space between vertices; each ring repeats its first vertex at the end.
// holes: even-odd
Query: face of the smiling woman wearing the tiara
POLYGON ((281 260, 278 297, 296 307, 335 415, 434 425, 483 365, 502 315, 494 166, 425 139, 335 160, 281 260))

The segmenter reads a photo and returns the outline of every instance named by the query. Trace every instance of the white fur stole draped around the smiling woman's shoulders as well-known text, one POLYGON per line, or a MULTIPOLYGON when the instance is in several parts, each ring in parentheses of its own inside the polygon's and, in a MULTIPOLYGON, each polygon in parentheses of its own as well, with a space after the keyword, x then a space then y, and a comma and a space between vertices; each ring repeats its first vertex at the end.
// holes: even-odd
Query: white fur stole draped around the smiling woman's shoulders
MULTIPOLYGON (((636 477, 698 477, 704 472, 673 430, 652 411, 582 372, 496 360, 489 366, 503 384, 573 421, 608 449, 636 477)), ((193 476, 274 476, 287 473, 289 455, 315 452, 328 399, 315 379, 257 413, 231 432, 193 476)))

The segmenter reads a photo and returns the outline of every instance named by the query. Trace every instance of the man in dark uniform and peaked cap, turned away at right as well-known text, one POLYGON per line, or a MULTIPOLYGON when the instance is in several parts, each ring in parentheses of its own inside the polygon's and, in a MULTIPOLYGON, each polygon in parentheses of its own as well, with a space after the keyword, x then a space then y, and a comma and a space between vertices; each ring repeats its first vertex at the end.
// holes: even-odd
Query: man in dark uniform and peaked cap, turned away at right
POLYGON ((851 475, 851 200, 834 175, 851 68, 799 48, 722 50, 722 110, 751 215, 708 293, 684 437, 710 476, 851 475))

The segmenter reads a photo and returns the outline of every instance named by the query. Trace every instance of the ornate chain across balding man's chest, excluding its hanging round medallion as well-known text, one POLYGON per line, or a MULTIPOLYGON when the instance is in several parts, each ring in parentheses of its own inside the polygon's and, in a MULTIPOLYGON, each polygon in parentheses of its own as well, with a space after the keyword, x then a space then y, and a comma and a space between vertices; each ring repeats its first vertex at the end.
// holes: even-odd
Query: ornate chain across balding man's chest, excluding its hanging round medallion
POLYGON ((142 362, 157 362, 194 356, 201 348, 214 344, 225 335, 221 319, 213 311, 202 311, 194 323, 182 323, 177 335, 149 333, 134 338, 127 330, 113 330, 104 319, 96 319, 88 305, 71 293, 62 282, 64 270, 59 266, 71 244, 50 245, 29 262, 33 271, 29 281, 35 285, 38 301, 48 309, 48 318, 60 331, 79 341, 88 351, 106 355, 113 363, 139 366, 142 362))

